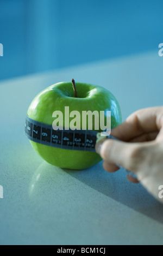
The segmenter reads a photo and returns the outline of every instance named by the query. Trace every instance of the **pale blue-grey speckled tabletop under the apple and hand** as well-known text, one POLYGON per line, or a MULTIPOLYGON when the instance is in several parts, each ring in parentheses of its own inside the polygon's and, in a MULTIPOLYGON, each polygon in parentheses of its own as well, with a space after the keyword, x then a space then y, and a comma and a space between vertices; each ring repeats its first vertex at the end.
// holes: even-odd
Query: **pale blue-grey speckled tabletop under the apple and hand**
POLYGON ((14 245, 162 244, 163 205, 121 169, 102 162, 82 171, 46 163, 24 136, 32 99, 60 81, 108 88, 123 120, 133 111, 162 105, 163 57, 158 51, 110 59, 0 83, 0 243, 14 245))

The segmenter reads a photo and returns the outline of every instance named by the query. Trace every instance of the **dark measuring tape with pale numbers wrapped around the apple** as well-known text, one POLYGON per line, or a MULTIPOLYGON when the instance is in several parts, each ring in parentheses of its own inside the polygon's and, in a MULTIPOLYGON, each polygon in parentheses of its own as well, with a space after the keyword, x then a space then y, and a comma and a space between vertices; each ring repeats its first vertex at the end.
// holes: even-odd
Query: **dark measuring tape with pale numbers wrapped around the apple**
MULTIPOLYGON (((29 140, 46 146, 63 148, 65 150, 96 152, 95 145, 101 139, 114 139, 114 136, 101 136, 94 130, 54 130, 52 124, 41 123, 26 115, 24 133, 29 140)), ((118 165, 122 168, 121 165, 118 165)), ((132 172, 126 170, 130 175, 136 177, 132 172)))

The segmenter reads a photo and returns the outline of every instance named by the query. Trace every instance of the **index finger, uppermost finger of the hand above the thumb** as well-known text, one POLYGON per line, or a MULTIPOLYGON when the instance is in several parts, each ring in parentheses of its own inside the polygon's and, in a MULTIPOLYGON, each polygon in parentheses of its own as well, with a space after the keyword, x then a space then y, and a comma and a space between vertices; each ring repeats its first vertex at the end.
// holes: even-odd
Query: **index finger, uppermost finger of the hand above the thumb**
POLYGON ((141 109, 112 129, 111 135, 129 141, 145 133, 158 132, 163 126, 163 106, 141 109))

